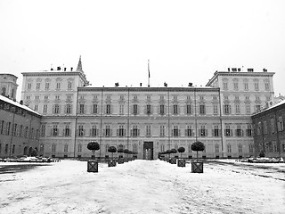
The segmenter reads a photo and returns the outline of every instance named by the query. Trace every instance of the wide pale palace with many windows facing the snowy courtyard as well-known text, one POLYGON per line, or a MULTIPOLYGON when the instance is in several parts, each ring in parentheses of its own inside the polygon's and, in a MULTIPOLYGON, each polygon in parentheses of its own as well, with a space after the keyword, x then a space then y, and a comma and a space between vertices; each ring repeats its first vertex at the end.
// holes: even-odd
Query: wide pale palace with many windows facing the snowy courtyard
POLYGON ((90 157, 86 145, 114 145, 156 159, 159 152, 206 145, 204 158, 256 155, 251 115, 273 99, 273 72, 216 71, 206 86, 96 87, 82 70, 24 72, 21 98, 42 115, 39 147, 45 156, 90 157))

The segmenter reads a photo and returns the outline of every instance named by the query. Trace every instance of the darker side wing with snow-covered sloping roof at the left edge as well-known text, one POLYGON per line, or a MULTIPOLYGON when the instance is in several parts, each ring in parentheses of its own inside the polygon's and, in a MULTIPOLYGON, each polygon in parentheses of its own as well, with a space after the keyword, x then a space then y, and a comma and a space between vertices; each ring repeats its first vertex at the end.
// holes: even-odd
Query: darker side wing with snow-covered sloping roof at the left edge
POLYGON ((0 157, 44 154, 39 146, 41 115, 0 95, 0 157))

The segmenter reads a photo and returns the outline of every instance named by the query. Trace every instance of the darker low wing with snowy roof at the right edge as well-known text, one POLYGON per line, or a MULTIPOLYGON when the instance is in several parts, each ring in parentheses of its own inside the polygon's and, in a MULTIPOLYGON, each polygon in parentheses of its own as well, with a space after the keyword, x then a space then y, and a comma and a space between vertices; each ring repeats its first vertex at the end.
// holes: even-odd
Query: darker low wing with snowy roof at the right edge
POLYGON ((267 106, 252 116, 256 156, 264 152, 266 157, 285 158, 285 101, 267 106))

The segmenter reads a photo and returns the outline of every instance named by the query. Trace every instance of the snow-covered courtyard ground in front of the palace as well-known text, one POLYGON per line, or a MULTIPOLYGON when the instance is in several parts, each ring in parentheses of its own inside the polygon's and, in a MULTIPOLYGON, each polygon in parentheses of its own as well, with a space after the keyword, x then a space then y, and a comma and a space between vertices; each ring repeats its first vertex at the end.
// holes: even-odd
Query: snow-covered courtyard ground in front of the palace
POLYGON ((61 161, 0 174, 0 213, 285 213, 284 163, 208 162, 202 174, 142 160, 86 169, 61 161))

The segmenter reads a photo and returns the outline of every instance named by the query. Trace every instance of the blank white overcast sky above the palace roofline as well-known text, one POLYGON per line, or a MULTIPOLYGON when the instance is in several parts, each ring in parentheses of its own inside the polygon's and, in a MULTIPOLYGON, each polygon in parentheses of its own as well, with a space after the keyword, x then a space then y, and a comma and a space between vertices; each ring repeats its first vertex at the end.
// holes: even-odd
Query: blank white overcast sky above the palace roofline
POLYGON ((0 0, 3 73, 83 70, 92 86, 205 86, 216 70, 275 72, 285 95, 285 1, 0 0))

